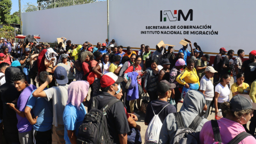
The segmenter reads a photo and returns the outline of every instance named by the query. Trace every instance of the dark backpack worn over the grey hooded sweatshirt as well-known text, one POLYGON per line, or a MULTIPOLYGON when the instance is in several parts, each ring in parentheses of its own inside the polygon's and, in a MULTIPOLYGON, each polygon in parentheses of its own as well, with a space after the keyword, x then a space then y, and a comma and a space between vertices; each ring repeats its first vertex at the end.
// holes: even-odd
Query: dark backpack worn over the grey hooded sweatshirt
POLYGON ((180 112, 173 113, 173 114, 177 122, 178 130, 176 131, 175 136, 173 137, 171 143, 173 144, 200 143, 199 139, 196 138, 195 131, 199 126, 199 124, 201 123, 201 121, 203 120, 203 118, 197 115, 193 120, 193 122, 188 127, 186 127, 180 112))

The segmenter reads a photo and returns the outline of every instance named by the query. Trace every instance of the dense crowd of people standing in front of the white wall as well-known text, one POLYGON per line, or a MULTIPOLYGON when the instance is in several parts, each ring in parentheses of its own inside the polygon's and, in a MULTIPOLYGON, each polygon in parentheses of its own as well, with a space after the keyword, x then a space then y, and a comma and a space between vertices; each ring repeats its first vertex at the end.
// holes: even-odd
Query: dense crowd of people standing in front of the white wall
POLYGON ((174 54, 173 46, 161 43, 155 52, 145 44, 138 52, 130 46, 124 52, 114 39, 95 47, 62 39, 51 47, 36 38, 17 43, 1 38, 0 142, 4 134, 15 144, 141 143, 140 133, 146 133, 145 143, 210 144, 235 141, 247 132, 251 135, 238 142, 256 143, 255 50, 242 61, 244 50, 234 59, 234 50, 221 47, 211 63, 197 43, 193 48, 186 41, 174 54), (183 103, 180 110, 178 103, 183 103), (222 112, 218 121, 207 120, 211 107, 216 117, 222 112), (88 120, 97 115, 95 108, 106 116, 101 142, 88 120), (136 123, 140 113, 146 114, 146 132, 136 123))

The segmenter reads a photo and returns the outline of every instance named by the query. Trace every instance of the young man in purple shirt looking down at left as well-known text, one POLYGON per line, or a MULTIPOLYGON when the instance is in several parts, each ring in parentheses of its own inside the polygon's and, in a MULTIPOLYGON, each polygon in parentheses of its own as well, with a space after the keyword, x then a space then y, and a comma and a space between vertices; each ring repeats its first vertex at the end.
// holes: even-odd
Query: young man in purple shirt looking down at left
POLYGON ((28 84, 27 76, 24 73, 13 75, 15 88, 20 91, 20 97, 17 100, 17 106, 13 103, 7 103, 11 109, 16 112, 19 131, 19 140, 21 144, 33 144, 33 126, 29 123, 25 115, 25 107, 32 91, 36 89, 35 85, 28 84))

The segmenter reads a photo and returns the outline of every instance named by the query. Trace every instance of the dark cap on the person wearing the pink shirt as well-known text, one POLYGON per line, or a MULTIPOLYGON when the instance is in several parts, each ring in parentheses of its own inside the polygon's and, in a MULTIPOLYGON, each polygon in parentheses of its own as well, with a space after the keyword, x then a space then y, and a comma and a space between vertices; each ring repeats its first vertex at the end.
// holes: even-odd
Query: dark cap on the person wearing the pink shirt
POLYGON ((248 94, 237 94, 230 100, 231 111, 240 111, 246 109, 256 110, 256 103, 252 102, 252 99, 248 94))

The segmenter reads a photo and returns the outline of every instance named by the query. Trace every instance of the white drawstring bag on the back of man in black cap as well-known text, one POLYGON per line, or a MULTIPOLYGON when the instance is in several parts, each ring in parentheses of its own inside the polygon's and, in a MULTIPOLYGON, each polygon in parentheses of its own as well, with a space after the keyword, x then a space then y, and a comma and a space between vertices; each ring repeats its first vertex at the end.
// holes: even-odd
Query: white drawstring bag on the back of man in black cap
MULTIPOLYGON (((170 105, 170 104, 168 104, 168 105, 170 105)), ((168 106, 168 105, 166 105, 166 106, 168 106)), ((145 134, 145 143, 158 143, 159 134, 160 134, 160 131, 161 131, 162 125, 163 125, 163 123, 158 115, 162 112, 162 110, 164 108, 157 115, 155 114, 154 109, 152 107, 152 101, 151 101, 151 108, 152 108, 155 116, 151 119, 150 123, 148 124, 148 128, 147 128, 146 134, 145 134)))

